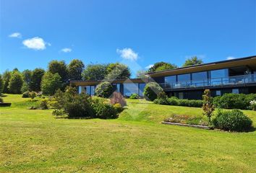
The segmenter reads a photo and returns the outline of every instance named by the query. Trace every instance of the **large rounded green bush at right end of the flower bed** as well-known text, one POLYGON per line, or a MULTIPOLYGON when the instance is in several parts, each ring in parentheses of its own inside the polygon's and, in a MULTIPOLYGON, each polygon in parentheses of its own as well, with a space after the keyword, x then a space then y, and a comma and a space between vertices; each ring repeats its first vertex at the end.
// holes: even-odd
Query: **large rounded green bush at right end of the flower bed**
POLYGON ((252 128, 252 120, 241 110, 218 110, 213 126, 222 130, 247 131, 252 128))

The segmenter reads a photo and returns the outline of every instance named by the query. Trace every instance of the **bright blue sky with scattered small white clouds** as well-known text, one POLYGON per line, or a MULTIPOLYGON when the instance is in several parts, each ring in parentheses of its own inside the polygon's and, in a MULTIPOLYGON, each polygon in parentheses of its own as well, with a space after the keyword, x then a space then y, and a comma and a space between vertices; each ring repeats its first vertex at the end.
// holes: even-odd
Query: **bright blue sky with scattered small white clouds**
POLYGON ((256 55, 256 0, 1 0, 0 73, 51 60, 181 66, 256 55))

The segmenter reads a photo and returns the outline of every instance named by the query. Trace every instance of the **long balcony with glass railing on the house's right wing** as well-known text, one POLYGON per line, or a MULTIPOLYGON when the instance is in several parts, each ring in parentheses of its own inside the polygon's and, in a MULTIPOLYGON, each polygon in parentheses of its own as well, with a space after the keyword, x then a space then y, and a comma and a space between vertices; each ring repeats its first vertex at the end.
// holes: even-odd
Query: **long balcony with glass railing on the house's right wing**
POLYGON ((229 76, 225 78, 212 78, 201 81, 178 81, 175 83, 162 83, 160 86, 165 90, 174 89, 197 89, 223 86, 246 86, 256 84, 256 74, 242 76, 229 76))

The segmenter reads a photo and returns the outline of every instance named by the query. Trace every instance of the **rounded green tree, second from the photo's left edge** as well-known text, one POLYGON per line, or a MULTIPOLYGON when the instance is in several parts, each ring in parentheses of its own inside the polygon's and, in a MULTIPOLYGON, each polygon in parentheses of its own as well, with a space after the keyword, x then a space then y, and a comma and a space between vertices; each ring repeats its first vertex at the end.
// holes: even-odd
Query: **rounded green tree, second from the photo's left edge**
POLYGON ((20 94, 23 82, 24 81, 20 72, 14 71, 12 73, 11 79, 9 80, 9 92, 12 94, 20 94))

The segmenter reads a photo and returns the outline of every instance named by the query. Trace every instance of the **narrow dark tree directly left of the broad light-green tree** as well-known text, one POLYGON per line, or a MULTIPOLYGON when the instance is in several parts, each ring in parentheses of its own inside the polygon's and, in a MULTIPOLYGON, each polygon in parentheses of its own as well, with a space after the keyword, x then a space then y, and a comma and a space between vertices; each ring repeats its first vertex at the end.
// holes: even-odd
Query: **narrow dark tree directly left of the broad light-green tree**
POLYGON ((45 71, 42 68, 35 68, 32 72, 31 81, 30 81, 30 90, 39 92, 42 77, 45 71))

